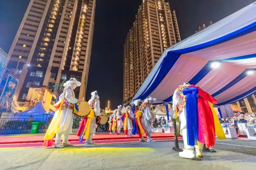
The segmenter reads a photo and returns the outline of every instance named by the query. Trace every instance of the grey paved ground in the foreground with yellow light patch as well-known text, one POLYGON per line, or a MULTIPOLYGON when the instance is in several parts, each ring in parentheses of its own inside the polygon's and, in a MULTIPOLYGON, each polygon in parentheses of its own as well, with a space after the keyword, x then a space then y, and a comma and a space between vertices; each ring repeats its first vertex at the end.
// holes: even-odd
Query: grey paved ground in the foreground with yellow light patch
MULTIPOLYGON (((217 141, 219 142, 219 141, 217 141)), ((223 142, 223 141, 222 141, 223 142)), ((256 156, 217 150, 188 160, 171 148, 174 142, 129 143, 71 148, 0 148, 0 169, 255 170, 256 156)), ((233 146, 233 145, 230 145, 233 146)), ((180 147, 183 144, 180 143, 180 147)))

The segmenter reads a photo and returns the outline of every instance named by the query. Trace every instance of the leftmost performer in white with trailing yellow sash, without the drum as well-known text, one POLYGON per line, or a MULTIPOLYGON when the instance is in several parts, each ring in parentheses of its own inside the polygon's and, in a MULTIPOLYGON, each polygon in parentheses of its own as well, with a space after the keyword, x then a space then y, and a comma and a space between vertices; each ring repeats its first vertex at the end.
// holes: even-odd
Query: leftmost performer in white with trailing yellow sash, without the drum
POLYGON ((76 78, 71 78, 69 81, 63 84, 64 91, 59 96, 59 102, 55 104, 57 109, 54 114, 54 118, 49 125, 49 128, 45 134, 45 142, 43 146, 49 146, 51 140, 56 133, 56 148, 63 148, 66 146, 73 146, 68 142, 68 136, 72 132, 73 125, 73 110, 74 104, 78 102, 75 98, 74 89, 80 86, 81 83, 76 78), (61 136, 63 135, 63 142, 61 145, 61 136))

